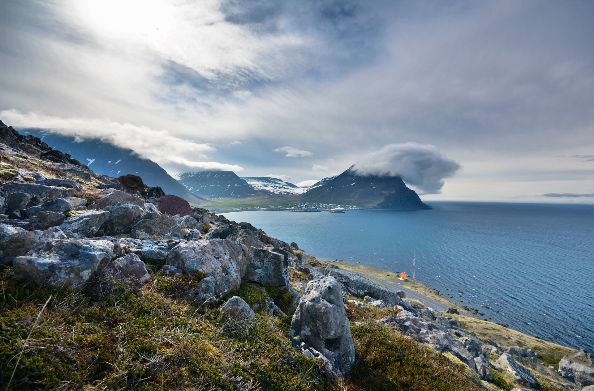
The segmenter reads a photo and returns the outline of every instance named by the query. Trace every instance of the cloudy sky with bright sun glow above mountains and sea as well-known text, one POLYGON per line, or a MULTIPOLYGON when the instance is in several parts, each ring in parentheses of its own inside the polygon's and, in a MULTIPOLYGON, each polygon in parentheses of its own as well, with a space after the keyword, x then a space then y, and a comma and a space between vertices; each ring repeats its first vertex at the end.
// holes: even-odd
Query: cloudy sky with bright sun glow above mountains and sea
POLYGON ((594 2, 3 0, 0 119, 170 174, 594 203, 594 2))

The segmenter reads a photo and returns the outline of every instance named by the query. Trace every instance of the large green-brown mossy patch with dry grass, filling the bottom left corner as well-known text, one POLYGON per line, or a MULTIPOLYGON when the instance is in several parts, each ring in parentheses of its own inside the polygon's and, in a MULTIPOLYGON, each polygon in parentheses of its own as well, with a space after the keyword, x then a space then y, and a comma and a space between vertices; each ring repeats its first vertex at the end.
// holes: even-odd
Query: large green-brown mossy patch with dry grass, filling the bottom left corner
POLYGON ((146 285, 95 282, 74 292, 0 271, 3 389, 339 389, 319 361, 293 349, 274 317, 258 315, 245 332, 219 310, 200 312, 184 294, 175 297, 201 276, 157 274, 146 285))

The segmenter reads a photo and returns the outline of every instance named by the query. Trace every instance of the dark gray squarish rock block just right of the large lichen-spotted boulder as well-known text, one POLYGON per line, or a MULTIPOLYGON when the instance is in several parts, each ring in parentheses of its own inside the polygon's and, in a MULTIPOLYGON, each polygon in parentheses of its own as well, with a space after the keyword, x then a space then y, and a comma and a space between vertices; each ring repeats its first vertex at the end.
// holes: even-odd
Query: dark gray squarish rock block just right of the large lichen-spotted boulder
POLYGON ((288 262, 283 255, 267 249, 254 249, 243 276, 245 282, 290 287, 288 262))

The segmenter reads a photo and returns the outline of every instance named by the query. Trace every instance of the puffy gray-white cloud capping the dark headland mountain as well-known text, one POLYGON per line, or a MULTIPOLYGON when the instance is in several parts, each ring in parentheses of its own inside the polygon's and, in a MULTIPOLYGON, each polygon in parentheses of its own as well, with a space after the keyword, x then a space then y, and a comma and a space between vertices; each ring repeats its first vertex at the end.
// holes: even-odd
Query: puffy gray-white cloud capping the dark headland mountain
POLYGON ((406 142, 390 144, 362 157, 354 167, 361 175, 399 176, 425 194, 438 194, 444 179, 460 164, 445 157, 434 145, 406 142))

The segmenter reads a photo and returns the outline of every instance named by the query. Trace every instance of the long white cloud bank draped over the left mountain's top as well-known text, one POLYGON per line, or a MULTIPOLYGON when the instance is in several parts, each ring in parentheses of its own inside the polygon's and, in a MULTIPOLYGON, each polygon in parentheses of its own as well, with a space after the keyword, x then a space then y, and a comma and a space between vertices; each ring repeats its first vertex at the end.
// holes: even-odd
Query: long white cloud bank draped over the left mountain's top
POLYGON ((131 123, 112 122, 95 118, 64 118, 2 110, 0 117, 12 126, 43 128, 48 132, 74 136, 75 140, 99 138, 122 148, 137 152, 141 157, 155 161, 173 171, 187 169, 242 171, 240 166, 198 161, 207 159, 208 152, 216 151, 211 145, 182 139, 166 130, 155 130, 131 123))

